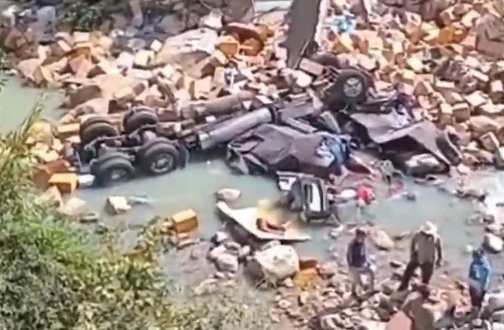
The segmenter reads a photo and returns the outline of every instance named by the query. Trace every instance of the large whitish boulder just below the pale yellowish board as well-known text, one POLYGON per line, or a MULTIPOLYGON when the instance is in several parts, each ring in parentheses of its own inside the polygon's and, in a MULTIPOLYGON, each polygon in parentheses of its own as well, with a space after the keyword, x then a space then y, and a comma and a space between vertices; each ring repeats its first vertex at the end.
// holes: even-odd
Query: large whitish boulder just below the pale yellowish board
POLYGON ((249 266, 255 275, 261 275, 271 282, 279 282, 299 271, 299 258, 292 246, 275 245, 256 251, 249 266))

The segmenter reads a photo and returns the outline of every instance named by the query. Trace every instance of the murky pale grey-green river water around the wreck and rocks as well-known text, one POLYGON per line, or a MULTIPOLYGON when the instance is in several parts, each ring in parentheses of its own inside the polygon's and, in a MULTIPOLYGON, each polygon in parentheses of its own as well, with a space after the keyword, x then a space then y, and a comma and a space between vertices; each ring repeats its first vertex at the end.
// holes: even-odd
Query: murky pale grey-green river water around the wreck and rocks
MULTIPOLYGON (((32 104, 39 97, 39 90, 21 87, 17 79, 11 79, 0 93, 0 131, 14 128, 28 113, 32 104)), ((62 96, 57 93, 46 94, 48 117, 58 117, 61 110, 57 105, 62 96)), ((219 188, 238 188, 243 196, 239 206, 255 205, 261 199, 274 199, 278 192, 272 179, 246 175, 234 175, 221 160, 221 154, 196 157, 183 171, 177 171, 162 177, 136 179, 132 182, 103 189, 83 189, 77 193, 88 205, 102 214, 102 221, 118 229, 129 229, 124 234, 124 247, 131 247, 133 233, 139 225, 145 224, 154 215, 167 216, 186 208, 194 208, 199 215, 198 235, 205 239, 223 227, 215 214, 214 192, 219 188), (151 200, 150 205, 135 206, 125 215, 111 217, 103 211, 104 202, 109 195, 145 195, 151 200)), ((492 191, 504 191, 504 176, 497 173, 484 173, 483 182, 492 191), (499 181, 501 180, 501 181, 499 181)), ((382 226, 389 233, 402 233, 418 228, 422 222, 431 220, 438 224, 444 238, 447 260, 458 275, 464 275, 469 257, 463 253, 465 246, 480 244, 483 228, 467 226, 465 219, 472 214, 472 205, 440 191, 436 187, 417 186, 411 182, 408 189, 415 191, 416 202, 409 202, 402 197, 387 198, 380 192, 379 201, 368 208, 362 217, 356 218, 353 207, 346 208, 343 218, 352 222, 373 222, 382 226)), ((320 261, 334 258, 334 253, 344 256, 343 242, 348 237, 330 239, 330 227, 298 224, 308 232, 312 240, 297 244, 297 251, 305 258, 317 258, 320 261), (339 242, 341 244, 339 244, 339 242), (335 246, 331 252, 329 246, 335 246)), ((407 246, 407 244, 406 244, 407 246)), ((397 254, 397 253, 396 253, 397 254)), ((342 257, 340 257, 342 258, 342 257)), ((171 258, 176 260, 176 258, 171 258)), ((169 269, 170 267, 168 267, 169 269)), ((176 267, 173 267, 176 269, 176 267)), ((177 273, 175 271, 175 273, 177 273)))

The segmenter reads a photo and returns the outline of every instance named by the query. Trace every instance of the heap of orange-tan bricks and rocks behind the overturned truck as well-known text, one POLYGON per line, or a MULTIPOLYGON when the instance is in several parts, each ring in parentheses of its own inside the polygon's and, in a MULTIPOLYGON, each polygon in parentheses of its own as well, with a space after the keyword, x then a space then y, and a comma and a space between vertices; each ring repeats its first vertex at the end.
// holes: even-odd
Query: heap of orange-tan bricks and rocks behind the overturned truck
MULTIPOLYGON (((333 1, 331 15, 351 10, 349 2, 333 1)), ((494 162, 504 143, 499 29, 504 23, 498 6, 462 1, 434 6, 427 17, 424 7, 378 5, 386 10, 361 14, 355 30, 326 24, 321 48, 370 72, 376 88, 395 86, 414 95, 426 119, 458 135, 465 164, 494 162)), ((149 106, 184 130, 214 120, 200 104, 226 95, 250 93, 240 99, 245 109, 275 99, 317 99, 313 92, 324 67, 305 59, 297 69, 286 68, 281 41, 287 21, 274 12, 259 20, 226 24, 211 10, 199 17, 199 28, 149 41, 125 37, 117 29, 58 32, 55 42, 44 46, 30 39, 30 31, 15 27, 3 28, 2 35, 4 46, 19 59, 21 75, 37 86, 67 91, 70 110, 57 131, 62 141, 75 142, 86 115, 111 115, 120 122, 117 118, 131 106, 149 106)))

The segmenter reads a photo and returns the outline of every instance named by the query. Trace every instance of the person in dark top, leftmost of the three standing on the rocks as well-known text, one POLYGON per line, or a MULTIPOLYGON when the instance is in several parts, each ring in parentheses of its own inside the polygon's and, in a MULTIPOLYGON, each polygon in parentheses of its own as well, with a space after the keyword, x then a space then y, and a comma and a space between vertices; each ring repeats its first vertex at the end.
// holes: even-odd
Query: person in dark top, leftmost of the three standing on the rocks
POLYGON ((346 262, 352 280, 352 295, 357 296, 357 288, 362 287, 361 275, 368 275, 371 282, 371 290, 375 286, 375 272, 368 260, 366 251, 367 232, 364 229, 355 231, 355 238, 348 245, 346 262))

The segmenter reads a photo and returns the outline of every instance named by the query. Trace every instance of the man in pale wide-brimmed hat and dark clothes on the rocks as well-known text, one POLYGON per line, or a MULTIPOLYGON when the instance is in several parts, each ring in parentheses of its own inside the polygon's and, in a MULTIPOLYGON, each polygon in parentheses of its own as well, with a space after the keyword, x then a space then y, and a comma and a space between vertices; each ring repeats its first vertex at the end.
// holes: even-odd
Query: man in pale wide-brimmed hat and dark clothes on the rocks
POLYGON ((422 271, 422 283, 429 284, 434 266, 440 267, 442 264, 441 238, 432 222, 426 222, 413 236, 410 253, 410 260, 402 275, 399 291, 408 289, 409 281, 418 267, 422 271))

